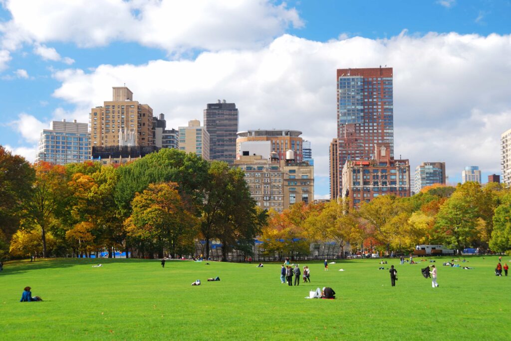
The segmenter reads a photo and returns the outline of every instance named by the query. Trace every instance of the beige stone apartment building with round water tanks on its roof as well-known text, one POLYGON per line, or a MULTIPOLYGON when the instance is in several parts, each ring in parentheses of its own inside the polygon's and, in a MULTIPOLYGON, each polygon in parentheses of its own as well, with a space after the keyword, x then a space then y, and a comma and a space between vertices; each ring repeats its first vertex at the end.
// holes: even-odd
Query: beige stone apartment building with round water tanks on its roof
POLYGON ((268 158, 241 155, 234 161, 245 172, 250 196, 264 209, 282 212, 296 202, 314 200, 314 166, 295 162, 291 150, 287 155, 287 160, 280 160, 276 152, 271 152, 268 158))

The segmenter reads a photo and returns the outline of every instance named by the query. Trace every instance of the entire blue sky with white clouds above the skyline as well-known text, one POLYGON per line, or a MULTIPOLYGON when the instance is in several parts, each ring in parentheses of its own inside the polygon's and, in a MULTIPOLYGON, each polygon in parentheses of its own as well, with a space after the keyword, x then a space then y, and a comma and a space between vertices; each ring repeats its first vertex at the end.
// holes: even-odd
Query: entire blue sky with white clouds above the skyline
POLYGON ((233 3, 2 2, 0 144, 33 160, 42 127, 86 122, 122 83, 169 127, 226 98, 240 130, 301 130, 325 197, 335 69, 388 64, 397 155, 412 169, 445 161, 452 182, 468 165, 499 174, 499 135, 511 127, 509 1, 233 3))

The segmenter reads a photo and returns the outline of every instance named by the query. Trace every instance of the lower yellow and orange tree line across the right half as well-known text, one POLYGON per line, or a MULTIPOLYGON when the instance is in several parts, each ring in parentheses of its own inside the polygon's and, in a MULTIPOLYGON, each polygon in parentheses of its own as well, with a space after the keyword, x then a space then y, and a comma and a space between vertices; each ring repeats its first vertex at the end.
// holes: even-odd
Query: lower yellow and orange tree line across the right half
POLYGON ((443 244, 511 252, 511 190, 500 183, 433 185, 412 197, 379 196, 358 210, 348 202, 294 204, 269 213, 262 240, 267 255, 309 254, 311 242, 335 241, 339 256, 377 250, 408 253, 416 245, 443 244))

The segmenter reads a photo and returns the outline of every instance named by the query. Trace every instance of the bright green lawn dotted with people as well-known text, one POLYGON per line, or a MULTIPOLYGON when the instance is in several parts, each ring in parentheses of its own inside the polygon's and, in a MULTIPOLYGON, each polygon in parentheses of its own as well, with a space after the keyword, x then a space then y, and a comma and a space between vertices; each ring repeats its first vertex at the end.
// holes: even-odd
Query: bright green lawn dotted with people
MULTIPOLYGON (((511 264, 506 256, 503 260, 511 264)), ((308 265, 312 283, 280 282, 280 265, 158 260, 11 261, 0 273, 3 340, 508 340, 511 275, 497 257, 474 270, 438 267, 438 288, 418 265, 399 265, 396 287, 378 260, 308 265), (339 269, 345 271, 340 272, 339 269), (219 276, 221 281, 207 282, 219 276), (196 279, 200 286, 191 286, 196 279), (44 302, 19 303, 25 286, 44 302), (331 286, 336 300, 305 299, 331 286)), ((504 263, 504 262, 503 262, 504 263)))

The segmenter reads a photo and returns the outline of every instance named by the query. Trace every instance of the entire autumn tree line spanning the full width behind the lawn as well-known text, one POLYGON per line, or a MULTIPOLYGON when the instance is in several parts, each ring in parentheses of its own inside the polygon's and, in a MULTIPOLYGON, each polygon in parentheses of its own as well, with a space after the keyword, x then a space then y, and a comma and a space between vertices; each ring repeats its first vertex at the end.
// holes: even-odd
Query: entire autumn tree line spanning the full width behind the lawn
POLYGON ((263 211, 238 168, 161 149, 118 166, 38 163, 0 146, 0 259, 124 250, 138 257, 189 255, 197 240, 251 254, 307 255, 312 242, 409 252, 419 244, 511 250, 511 190, 498 183, 434 185, 409 198, 296 203, 263 211))

